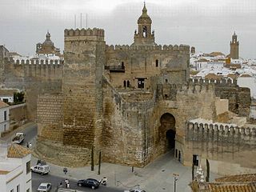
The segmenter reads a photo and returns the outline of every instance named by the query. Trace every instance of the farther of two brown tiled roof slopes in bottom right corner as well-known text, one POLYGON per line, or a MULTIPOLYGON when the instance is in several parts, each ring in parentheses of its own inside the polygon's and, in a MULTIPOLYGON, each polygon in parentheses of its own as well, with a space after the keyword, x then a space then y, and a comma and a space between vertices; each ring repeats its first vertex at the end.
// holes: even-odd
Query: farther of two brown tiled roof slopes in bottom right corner
POLYGON ((216 178, 216 182, 256 182, 256 174, 238 174, 223 178, 216 178))

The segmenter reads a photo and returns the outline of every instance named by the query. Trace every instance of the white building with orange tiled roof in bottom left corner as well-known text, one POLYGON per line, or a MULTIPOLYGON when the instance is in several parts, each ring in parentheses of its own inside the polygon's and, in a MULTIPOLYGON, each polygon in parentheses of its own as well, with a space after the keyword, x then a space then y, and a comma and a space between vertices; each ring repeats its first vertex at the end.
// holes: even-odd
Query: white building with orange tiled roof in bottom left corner
POLYGON ((0 143, 0 191, 32 192, 30 150, 0 143))

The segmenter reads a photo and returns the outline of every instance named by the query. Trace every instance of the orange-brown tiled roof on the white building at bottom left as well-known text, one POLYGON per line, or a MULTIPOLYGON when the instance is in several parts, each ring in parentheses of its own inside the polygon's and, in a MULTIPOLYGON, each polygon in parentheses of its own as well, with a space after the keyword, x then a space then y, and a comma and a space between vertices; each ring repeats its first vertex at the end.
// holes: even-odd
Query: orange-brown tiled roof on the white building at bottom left
POLYGON ((24 158, 26 155, 31 154, 31 151, 23 146, 12 143, 8 147, 8 158, 24 158))

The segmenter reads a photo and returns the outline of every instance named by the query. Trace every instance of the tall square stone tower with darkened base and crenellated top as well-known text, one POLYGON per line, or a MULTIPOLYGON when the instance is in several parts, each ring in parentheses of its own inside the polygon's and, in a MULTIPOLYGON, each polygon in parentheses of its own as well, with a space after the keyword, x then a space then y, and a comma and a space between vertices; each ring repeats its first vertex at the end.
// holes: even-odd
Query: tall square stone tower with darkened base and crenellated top
POLYGON ((100 147, 104 30, 65 30, 63 143, 100 147))

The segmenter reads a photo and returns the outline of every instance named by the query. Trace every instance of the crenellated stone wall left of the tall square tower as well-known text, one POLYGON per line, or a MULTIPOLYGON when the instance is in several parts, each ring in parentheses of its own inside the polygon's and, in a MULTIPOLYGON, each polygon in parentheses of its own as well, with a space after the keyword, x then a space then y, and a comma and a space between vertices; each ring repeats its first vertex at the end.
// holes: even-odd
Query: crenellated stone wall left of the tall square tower
POLYGON ((62 65, 15 64, 5 62, 2 72, 6 88, 25 90, 28 118, 36 119, 39 94, 62 91, 62 65))

